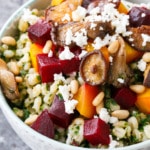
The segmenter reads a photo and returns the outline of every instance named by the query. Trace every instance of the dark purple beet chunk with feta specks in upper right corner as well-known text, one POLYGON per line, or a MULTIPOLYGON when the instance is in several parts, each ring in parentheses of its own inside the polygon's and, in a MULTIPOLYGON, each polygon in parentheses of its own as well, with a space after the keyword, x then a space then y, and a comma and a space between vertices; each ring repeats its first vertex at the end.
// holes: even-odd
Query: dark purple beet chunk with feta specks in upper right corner
POLYGON ((140 27, 141 25, 150 25, 150 9, 145 7, 133 7, 129 11, 130 26, 140 27))

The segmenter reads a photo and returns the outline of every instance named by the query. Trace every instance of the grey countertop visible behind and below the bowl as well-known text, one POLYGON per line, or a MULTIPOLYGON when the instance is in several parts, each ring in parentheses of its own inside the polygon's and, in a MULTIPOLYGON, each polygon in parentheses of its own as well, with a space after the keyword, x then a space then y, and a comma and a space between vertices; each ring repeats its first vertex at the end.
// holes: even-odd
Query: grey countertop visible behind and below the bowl
MULTIPOLYGON (((27 0, 0 0, 0 29, 10 15, 27 0)), ((13 131, 0 110, 0 150, 30 150, 13 131)))

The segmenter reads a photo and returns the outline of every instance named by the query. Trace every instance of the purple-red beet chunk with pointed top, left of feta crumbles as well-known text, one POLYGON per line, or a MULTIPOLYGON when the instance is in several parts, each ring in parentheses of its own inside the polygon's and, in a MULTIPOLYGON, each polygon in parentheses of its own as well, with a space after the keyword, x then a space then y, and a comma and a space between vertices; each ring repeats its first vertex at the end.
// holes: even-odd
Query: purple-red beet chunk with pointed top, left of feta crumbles
POLYGON ((49 109, 49 116, 56 125, 63 128, 67 128, 74 117, 73 114, 65 112, 64 100, 60 100, 58 96, 55 96, 53 104, 49 109))

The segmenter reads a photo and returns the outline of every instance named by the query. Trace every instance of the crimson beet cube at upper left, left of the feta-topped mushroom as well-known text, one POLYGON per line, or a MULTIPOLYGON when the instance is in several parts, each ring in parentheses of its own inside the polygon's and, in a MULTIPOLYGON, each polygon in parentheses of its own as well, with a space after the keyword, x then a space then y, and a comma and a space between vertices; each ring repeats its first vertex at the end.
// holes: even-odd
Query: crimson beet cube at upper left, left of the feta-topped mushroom
POLYGON ((33 43, 44 45, 50 39, 52 25, 44 20, 40 20, 28 29, 29 38, 33 43))

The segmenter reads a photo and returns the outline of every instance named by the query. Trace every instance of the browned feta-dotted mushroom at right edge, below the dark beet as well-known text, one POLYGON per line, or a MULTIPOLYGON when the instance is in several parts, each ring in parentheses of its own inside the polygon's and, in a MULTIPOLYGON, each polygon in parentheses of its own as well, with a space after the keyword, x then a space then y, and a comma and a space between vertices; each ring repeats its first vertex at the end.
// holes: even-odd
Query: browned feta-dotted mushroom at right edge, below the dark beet
POLYGON ((150 41, 144 43, 144 38, 142 37, 143 34, 150 36, 150 26, 128 27, 128 31, 131 31, 132 35, 126 40, 132 47, 140 51, 150 51, 150 41))

